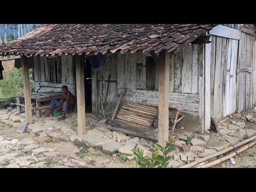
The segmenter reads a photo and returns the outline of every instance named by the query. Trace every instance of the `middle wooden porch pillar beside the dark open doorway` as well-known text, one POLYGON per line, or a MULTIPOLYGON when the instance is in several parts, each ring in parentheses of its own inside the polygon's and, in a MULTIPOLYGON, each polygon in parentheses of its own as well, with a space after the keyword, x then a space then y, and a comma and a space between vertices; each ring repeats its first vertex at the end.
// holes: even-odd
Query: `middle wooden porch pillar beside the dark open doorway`
POLYGON ((76 55, 75 59, 78 136, 82 137, 85 134, 84 55, 76 55))

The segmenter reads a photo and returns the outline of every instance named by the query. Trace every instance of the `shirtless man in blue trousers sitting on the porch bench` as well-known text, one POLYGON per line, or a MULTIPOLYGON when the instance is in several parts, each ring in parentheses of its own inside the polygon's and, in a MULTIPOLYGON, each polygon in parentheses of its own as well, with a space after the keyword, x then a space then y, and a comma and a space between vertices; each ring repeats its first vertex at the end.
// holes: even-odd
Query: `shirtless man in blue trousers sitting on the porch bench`
POLYGON ((62 102, 53 99, 50 103, 50 115, 52 114, 52 110, 54 110, 54 106, 57 105, 58 107, 56 108, 56 112, 58 112, 62 106, 62 111, 64 112, 62 117, 60 118, 60 120, 64 120, 66 117, 66 112, 68 111, 68 109, 74 109, 74 96, 70 93, 70 91, 68 91, 68 86, 64 85, 61 88, 61 92, 62 92, 62 102))

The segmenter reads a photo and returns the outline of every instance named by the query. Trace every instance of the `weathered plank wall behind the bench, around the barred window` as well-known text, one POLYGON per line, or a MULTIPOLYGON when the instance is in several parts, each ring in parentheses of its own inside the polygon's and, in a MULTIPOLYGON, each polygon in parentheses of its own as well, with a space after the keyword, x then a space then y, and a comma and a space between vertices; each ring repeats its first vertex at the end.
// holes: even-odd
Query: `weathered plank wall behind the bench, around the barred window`
POLYGON ((49 77, 48 58, 33 56, 35 92, 61 92, 61 87, 66 85, 68 90, 76 95, 74 57, 58 56, 57 62, 58 83, 52 83, 49 77))

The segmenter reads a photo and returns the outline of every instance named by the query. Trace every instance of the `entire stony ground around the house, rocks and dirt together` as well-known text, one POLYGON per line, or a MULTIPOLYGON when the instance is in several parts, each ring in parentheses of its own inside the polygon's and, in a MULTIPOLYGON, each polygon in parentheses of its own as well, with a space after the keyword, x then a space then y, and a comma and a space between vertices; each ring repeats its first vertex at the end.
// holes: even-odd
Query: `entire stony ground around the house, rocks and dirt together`
MULTIPOLYGON (((15 109, 0 110, 1 167, 130 168, 134 167, 132 148, 143 148, 145 155, 151 155, 155 149, 154 141, 111 131, 106 124, 96 124, 99 118, 95 114, 86 114, 86 134, 82 138, 77 136, 76 112, 61 122, 56 117, 43 114, 36 118, 34 114, 33 123, 18 134, 16 129, 24 118, 24 113, 18 114, 15 109)), ((178 168, 256 135, 255 122, 255 110, 248 110, 225 118, 219 133, 176 132, 176 151, 170 153, 173 158, 168 168, 178 168)), ((255 166, 254 154, 255 148, 246 150, 235 158, 237 164, 232 166, 255 166)), ((214 167, 225 165, 229 167, 229 161, 214 167)))

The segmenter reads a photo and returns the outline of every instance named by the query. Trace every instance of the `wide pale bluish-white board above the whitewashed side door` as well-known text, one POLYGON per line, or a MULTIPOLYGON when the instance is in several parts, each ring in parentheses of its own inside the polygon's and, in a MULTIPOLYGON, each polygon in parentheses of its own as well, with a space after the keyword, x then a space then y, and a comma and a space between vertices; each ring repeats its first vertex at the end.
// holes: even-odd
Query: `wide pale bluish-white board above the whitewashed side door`
POLYGON ((220 36, 220 37, 226 37, 230 39, 237 39, 240 40, 241 37, 241 31, 237 29, 233 29, 227 26, 223 25, 218 25, 212 30, 210 30, 209 34, 215 35, 215 36, 220 36))

